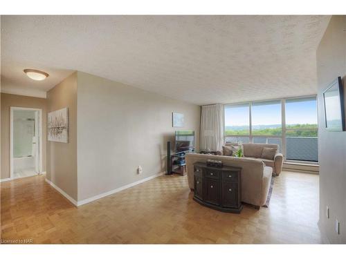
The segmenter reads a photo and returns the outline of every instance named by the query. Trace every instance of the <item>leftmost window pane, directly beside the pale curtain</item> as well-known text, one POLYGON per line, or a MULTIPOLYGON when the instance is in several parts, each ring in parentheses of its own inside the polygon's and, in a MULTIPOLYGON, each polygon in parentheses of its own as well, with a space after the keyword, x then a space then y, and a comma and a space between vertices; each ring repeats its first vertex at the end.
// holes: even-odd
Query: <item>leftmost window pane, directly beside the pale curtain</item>
POLYGON ((250 133, 248 111, 249 104, 225 106, 226 135, 248 135, 250 133))

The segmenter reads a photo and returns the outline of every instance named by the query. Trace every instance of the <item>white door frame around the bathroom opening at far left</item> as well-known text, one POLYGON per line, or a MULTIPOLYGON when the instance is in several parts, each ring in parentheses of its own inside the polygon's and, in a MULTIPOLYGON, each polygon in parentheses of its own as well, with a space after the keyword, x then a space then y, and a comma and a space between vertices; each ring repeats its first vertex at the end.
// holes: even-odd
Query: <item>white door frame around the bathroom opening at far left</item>
MULTIPOLYGON (((24 107, 10 107, 10 179, 14 178, 14 165, 13 165, 13 111, 38 111, 39 112, 39 173, 42 173, 42 109, 40 108, 24 108, 24 107)), ((35 122, 36 123, 36 122, 35 122)))

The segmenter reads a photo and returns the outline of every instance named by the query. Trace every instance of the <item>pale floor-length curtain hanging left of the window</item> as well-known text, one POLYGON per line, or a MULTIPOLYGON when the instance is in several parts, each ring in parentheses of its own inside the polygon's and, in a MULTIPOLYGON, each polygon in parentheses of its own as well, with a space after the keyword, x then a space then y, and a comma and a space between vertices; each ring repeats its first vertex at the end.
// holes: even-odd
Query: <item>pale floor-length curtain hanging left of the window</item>
POLYGON ((224 105, 202 106, 201 144, 203 150, 221 151, 224 144, 224 105))

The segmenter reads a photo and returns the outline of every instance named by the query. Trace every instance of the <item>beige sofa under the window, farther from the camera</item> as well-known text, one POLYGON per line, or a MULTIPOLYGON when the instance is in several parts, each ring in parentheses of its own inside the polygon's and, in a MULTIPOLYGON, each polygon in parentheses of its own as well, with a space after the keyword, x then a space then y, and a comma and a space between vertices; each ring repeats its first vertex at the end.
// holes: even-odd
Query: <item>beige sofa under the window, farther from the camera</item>
MULTIPOLYGON (((237 143, 226 143, 225 146, 237 145, 237 143)), ((266 166, 270 166, 273 169, 275 175, 280 175, 282 171, 283 156, 279 152, 279 145, 277 144, 243 144, 244 157, 251 157, 257 160, 262 160, 266 166), (276 148, 274 160, 268 160, 261 157, 263 148, 276 148)))

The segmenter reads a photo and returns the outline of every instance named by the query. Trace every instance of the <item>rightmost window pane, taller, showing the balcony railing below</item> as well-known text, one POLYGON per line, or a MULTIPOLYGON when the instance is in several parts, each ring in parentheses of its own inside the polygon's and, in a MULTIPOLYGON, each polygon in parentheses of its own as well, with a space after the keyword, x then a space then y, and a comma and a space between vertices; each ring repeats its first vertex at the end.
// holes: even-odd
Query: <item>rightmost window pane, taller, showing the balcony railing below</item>
POLYGON ((316 98, 286 100, 286 159, 318 161, 316 98))

